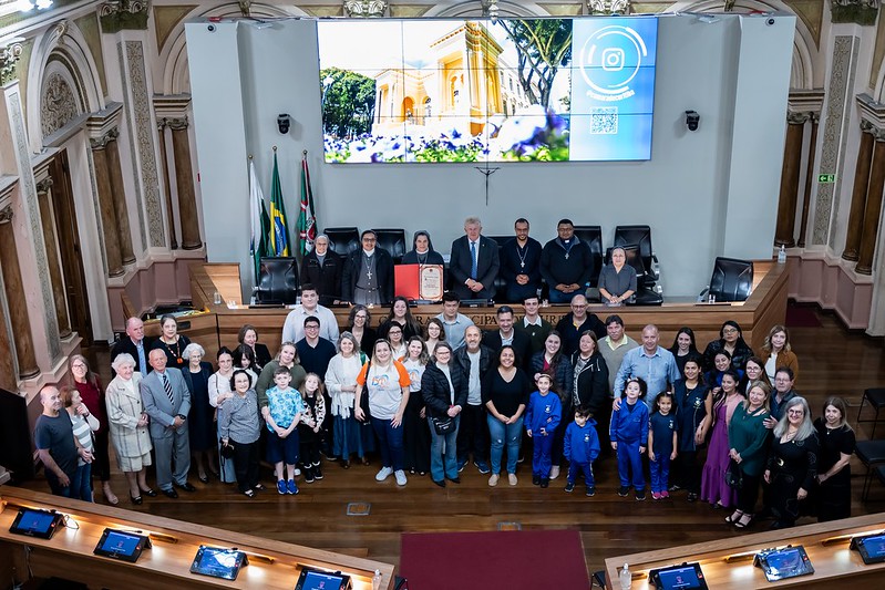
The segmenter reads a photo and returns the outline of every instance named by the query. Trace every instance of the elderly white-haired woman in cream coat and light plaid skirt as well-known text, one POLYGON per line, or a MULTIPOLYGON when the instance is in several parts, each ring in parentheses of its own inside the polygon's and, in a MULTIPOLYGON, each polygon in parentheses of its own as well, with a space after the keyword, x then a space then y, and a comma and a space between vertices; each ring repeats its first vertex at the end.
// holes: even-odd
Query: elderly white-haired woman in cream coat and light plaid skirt
POLYGON ((135 371, 135 359, 125 352, 116 355, 111 368, 116 376, 104 394, 111 444, 114 445, 116 465, 128 482, 130 499, 140 505, 143 501, 142 496, 156 496, 156 491, 147 486, 145 479, 145 467, 151 465, 153 445, 147 431, 147 413, 142 406, 138 390, 142 374, 135 371))

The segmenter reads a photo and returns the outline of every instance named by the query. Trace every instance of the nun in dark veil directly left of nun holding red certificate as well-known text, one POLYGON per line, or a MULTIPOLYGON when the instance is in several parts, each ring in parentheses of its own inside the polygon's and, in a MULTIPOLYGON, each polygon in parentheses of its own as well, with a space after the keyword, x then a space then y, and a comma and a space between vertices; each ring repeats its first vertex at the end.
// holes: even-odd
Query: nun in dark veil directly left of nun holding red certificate
POLYGON ((362 248, 348 255, 341 277, 341 298, 362 306, 387 306, 393 299, 393 258, 375 248, 371 229, 360 236, 362 248))

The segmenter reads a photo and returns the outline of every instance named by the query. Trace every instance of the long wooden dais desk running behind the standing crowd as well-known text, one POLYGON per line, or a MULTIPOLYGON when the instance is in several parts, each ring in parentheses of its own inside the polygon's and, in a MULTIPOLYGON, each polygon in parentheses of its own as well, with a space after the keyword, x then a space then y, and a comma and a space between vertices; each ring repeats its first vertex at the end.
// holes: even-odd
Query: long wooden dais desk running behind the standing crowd
MULTIPOLYGON (((719 338, 719 329, 726 320, 734 320, 743 330, 744 340, 753 350, 759 351, 768 335, 769 329, 776 323, 783 323, 786 317, 788 292, 788 265, 778 265, 772 260, 755 260, 753 292, 747 301, 739 303, 697 303, 696 298, 670 298, 665 293, 665 303, 661 307, 627 306, 607 308, 603 304, 591 304, 588 311, 595 313, 600 320, 609 314, 617 313, 624 319, 627 332, 639 340, 642 327, 654 323, 660 329, 660 343, 669 348, 676 333, 683 325, 694 330, 698 346, 703 351, 707 342, 719 338)), ((256 327, 259 341, 276 354, 282 335, 282 323, 286 321, 288 309, 257 309, 243 304, 243 289, 239 281, 239 265, 237 263, 191 263, 191 296, 194 307, 205 309, 206 314, 200 322, 210 323, 209 315, 214 314, 217 333, 212 333, 203 323, 195 323, 194 334, 182 330, 192 340, 199 342, 206 349, 207 360, 214 360, 215 351, 220 345, 234 349, 237 344, 237 332, 245 323, 256 327), (215 303, 215 293, 222 298, 222 303, 215 303), (233 303, 230 306, 229 303, 233 303)), ((461 312, 469 317, 480 328, 487 330, 496 325, 495 310, 500 306, 487 308, 465 308, 461 312)), ((516 315, 524 313, 522 304, 511 306, 516 315)), ((349 308, 332 308, 341 328, 348 324, 349 308)), ((371 325, 378 325, 387 318, 390 308, 372 309, 371 325)), ((570 311, 569 306, 548 306, 542 308, 541 315, 556 324, 559 319, 570 311)), ((412 314, 425 324, 430 318, 442 312, 442 304, 419 306, 412 308, 412 314)), ((147 335, 158 335, 159 328, 145 327, 147 335)))

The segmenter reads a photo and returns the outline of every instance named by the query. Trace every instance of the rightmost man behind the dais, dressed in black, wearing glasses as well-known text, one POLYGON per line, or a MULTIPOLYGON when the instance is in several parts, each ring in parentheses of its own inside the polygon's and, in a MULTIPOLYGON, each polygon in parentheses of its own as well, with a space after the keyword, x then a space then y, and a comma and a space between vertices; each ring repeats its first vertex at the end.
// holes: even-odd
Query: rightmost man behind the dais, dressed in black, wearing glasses
POLYGON ((593 276, 593 256, 586 244, 575 236, 570 219, 562 219, 557 237, 544 245, 541 275, 550 288, 550 303, 568 303, 583 293, 593 276))

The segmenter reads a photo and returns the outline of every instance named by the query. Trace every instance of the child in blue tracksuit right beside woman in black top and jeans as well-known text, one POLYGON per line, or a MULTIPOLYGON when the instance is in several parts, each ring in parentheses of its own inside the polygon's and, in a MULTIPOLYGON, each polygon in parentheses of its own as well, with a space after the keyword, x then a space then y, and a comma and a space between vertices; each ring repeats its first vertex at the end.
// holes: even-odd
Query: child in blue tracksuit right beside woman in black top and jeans
POLYGON ((532 437, 532 483, 536 486, 550 485, 550 449, 559 421, 563 418, 563 404, 559 396, 550 394, 553 380, 546 373, 537 379, 538 391, 528 398, 525 410, 525 433, 532 437))

